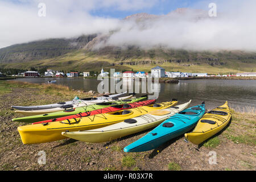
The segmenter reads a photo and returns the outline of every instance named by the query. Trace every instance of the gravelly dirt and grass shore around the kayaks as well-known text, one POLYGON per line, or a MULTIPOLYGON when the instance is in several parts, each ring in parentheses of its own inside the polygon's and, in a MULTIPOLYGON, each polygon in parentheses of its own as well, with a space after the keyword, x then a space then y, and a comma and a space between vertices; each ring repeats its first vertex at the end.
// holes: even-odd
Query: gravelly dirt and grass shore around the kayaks
POLYGON ((39 88, 13 88, 11 92, 0 96, 1 170, 256 169, 256 117, 254 114, 245 119, 233 117, 230 125, 222 133, 214 136, 213 140, 208 140, 199 148, 192 143, 185 142, 184 136, 180 136, 154 151, 131 154, 123 152, 125 146, 143 137, 148 131, 109 143, 91 144, 64 139, 24 145, 17 127, 26 124, 11 121, 12 118, 22 116, 14 113, 11 105, 47 104, 59 101, 63 101, 63 96, 42 94, 39 88), (243 136, 242 139, 241 136, 243 136), (46 164, 38 163, 40 151, 46 152, 46 164), (209 154, 216 154, 216 164, 209 164, 209 160, 213 159, 213 155, 209 156, 209 154))

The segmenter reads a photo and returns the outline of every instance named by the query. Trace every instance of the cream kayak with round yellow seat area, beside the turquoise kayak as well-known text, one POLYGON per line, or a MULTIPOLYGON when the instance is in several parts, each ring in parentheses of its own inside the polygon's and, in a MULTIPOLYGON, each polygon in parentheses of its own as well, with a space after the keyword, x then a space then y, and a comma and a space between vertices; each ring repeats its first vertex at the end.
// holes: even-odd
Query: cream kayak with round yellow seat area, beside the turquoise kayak
POLYGON ((166 119, 170 118, 172 115, 186 109, 190 102, 191 101, 185 104, 171 106, 167 109, 151 111, 150 113, 141 115, 139 117, 125 119, 123 122, 101 127, 99 129, 72 132, 66 131, 61 134, 65 137, 81 140, 84 142, 109 142, 113 139, 118 139, 130 134, 150 129, 152 127, 156 127, 166 119))

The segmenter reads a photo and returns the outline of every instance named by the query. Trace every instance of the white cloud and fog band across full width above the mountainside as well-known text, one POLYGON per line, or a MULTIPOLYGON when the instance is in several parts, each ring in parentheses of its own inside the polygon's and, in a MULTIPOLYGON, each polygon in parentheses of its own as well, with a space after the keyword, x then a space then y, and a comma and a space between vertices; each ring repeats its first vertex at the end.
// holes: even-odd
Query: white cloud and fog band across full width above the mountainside
MULTIPOLYGON (((177 9, 166 15, 146 13, 124 19, 99 17, 90 11, 100 6, 119 11, 153 7, 154 1, 44 1, 46 17, 39 17, 40 1, 22 0, 22 5, 0 2, 0 48, 48 38, 73 38, 98 34, 90 49, 105 46, 164 47, 187 50, 256 51, 256 1, 217 1, 217 17, 210 18, 208 7, 177 9)), ((204 2, 204 1, 203 1, 204 2)))

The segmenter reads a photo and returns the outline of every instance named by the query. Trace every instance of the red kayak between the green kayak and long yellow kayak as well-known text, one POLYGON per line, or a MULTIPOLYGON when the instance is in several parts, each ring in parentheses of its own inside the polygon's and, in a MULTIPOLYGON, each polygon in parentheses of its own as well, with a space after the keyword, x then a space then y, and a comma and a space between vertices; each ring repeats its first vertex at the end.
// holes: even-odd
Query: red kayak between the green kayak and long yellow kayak
POLYGON ((130 104, 122 104, 122 105, 117 105, 117 106, 111 106, 111 107, 106 107, 104 109, 97 109, 97 110, 86 111, 84 113, 79 113, 79 114, 75 114, 75 115, 68 115, 66 117, 48 119, 48 120, 45 120, 45 121, 39 121, 39 122, 32 123, 32 125, 39 124, 39 123, 49 123, 49 122, 55 122, 55 121, 63 121, 65 119, 81 118, 81 117, 86 117, 88 115, 109 113, 109 112, 123 110, 123 109, 132 109, 132 108, 135 108, 135 107, 154 104, 155 101, 156 100, 147 100, 147 101, 134 102, 134 103, 130 103, 130 104))

